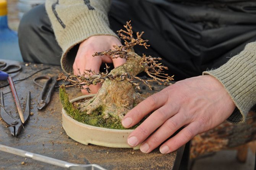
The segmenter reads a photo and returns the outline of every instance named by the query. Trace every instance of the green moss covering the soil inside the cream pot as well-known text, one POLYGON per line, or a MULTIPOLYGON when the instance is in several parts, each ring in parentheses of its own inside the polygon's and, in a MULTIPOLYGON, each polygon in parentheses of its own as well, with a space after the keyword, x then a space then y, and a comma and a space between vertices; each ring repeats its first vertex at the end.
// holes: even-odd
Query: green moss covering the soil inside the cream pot
MULTIPOLYGON (((121 120, 117 120, 112 116, 110 116, 108 119, 105 119, 104 114, 102 114, 105 109, 103 106, 99 106, 98 108, 93 110, 91 114, 87 114, 86 112, 81 112, 80 110, 75 108, 73 104, 69 102, 68 94, 66 93, 64 86, 60 86, 60 101, 63 105, 63 108, 66 110, 66 113, 70 115, 70 117, 72 117, 73 119, 79 122, 85 123, 87 125, 102 127, 102 128, 126 129, 122 126, 121 120)), ((146 118, 144 118, 142 121, 144 121, 145 119, 146 118)), ((139 126, 140 123, 138 123, 136 126, 133 126, 130 129, 135 129, 136 127, 139 126)))

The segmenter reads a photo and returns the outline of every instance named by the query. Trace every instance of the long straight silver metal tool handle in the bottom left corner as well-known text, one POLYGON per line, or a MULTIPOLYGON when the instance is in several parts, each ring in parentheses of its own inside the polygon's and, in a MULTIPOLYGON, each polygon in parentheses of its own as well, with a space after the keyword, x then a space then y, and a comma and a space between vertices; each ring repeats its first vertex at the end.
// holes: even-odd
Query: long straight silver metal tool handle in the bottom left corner
POLYGON ((37 160, 37 161, 40 161, 40 162, 45 162, 47 164, 52 164, 52 165, 56 165, 56 166, 63 167, 63 168, 69 168, 71 166, 77 166, 78 165, 78 164, 72 164, 70 162, 66 162, 66 161, 63 161, 63 160, 58 160, 58 159, 54 159, 54 158, 51 158, 51 157, 47 157, 47 156, 44 156, 44 155, 39 155, 39 154, 34 154, 34 153, 31 153, 31 152, 23 151, 21 149, 16 149, 14 147, 5 146, 5 145, 2 145, 2 144, 0 144, 0 151, 8 152, 10 154, 19 155, 19 156, 22 156, 22 157, 28 157, 28 158, 31 158, 31 159, 34 159, 34 160, 37 160))

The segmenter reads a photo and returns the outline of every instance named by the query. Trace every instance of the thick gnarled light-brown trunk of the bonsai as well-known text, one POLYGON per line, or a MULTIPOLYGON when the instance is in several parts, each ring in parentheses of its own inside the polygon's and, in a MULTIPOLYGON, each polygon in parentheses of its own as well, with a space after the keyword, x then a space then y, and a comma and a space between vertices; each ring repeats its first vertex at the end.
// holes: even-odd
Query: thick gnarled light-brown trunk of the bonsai
POLYGON ((136 76, 144 71, 144 67, 139 64, 141 57, 134 52, 127 54, 133 57, 129 57, 125 64, 110 71, 116 79, 106 79, 96 96, 79 104, 79 110, 87 114, 97 111, 103 114, 105 119, 113 117, 121 120, 129 110, 144 100, 134 91, 132 83, 120 77, 122 74, 136 76))

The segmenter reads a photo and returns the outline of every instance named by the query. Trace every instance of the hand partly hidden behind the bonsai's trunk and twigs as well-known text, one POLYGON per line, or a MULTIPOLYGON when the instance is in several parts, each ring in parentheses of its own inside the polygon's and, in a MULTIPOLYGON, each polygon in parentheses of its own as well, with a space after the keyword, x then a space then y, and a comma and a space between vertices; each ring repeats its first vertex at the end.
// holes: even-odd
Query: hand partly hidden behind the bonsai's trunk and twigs
MULTIPOLYGON (((100 65, 103 63, 113 63, 114 67, 120 66, 126 62, 124 58, 111 58, 109 55, 95 56, 92 55, 95 52, 103 52, 109 49, 113 49, 113 45, 122 45, 120 40, 114 36, 92 36, 84 40, 79 45, 78 52, 76 54, 75 62, 73 64, 73 70, 75 75, 79 75, 79 71, 82 74, 84 70, 94 70, 98 73, 100 70, 100 65)), ((86 88, 87 86, 84 86, 86 88)), ((89 88, 91 93, 97 93, 101 84, 90 85, 89 88)), ((88 94, 84 89, 81 90, 83 94, 88 94)))

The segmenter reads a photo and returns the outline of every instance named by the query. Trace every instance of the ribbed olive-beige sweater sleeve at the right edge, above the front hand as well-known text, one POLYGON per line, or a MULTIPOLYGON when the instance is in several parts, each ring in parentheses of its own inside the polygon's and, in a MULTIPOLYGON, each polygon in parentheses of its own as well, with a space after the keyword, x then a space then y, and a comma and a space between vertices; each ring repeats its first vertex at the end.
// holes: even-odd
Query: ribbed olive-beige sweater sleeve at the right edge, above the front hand
POLYGON ((244 122, 247 113, 256 104, 256 42, 246 45, 238 55, 215 70, 204 71, 223 84, 237 106, 228 121, 244 122))

